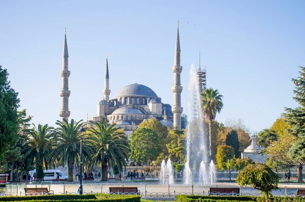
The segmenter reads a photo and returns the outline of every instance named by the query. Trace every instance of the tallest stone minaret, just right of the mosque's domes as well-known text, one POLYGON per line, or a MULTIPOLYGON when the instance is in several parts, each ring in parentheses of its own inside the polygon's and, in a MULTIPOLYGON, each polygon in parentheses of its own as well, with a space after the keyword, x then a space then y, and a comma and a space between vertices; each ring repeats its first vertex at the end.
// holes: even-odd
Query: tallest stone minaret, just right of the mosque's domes
POLYGON ((179 21, 177 22, 177 36, 176 36, 176 45, 175 45, 175 58, 174 58, 174 86, 172 88, 174 93, 174 106, 172 107, 172 112, 174 114, 174 127, 177 130, 181 130, 181 113, 183 108, 181 107, 181 92, 182 86, 180 81, 180 74, 182 67, 180 66, 180 40, 179 40, 179 21))

